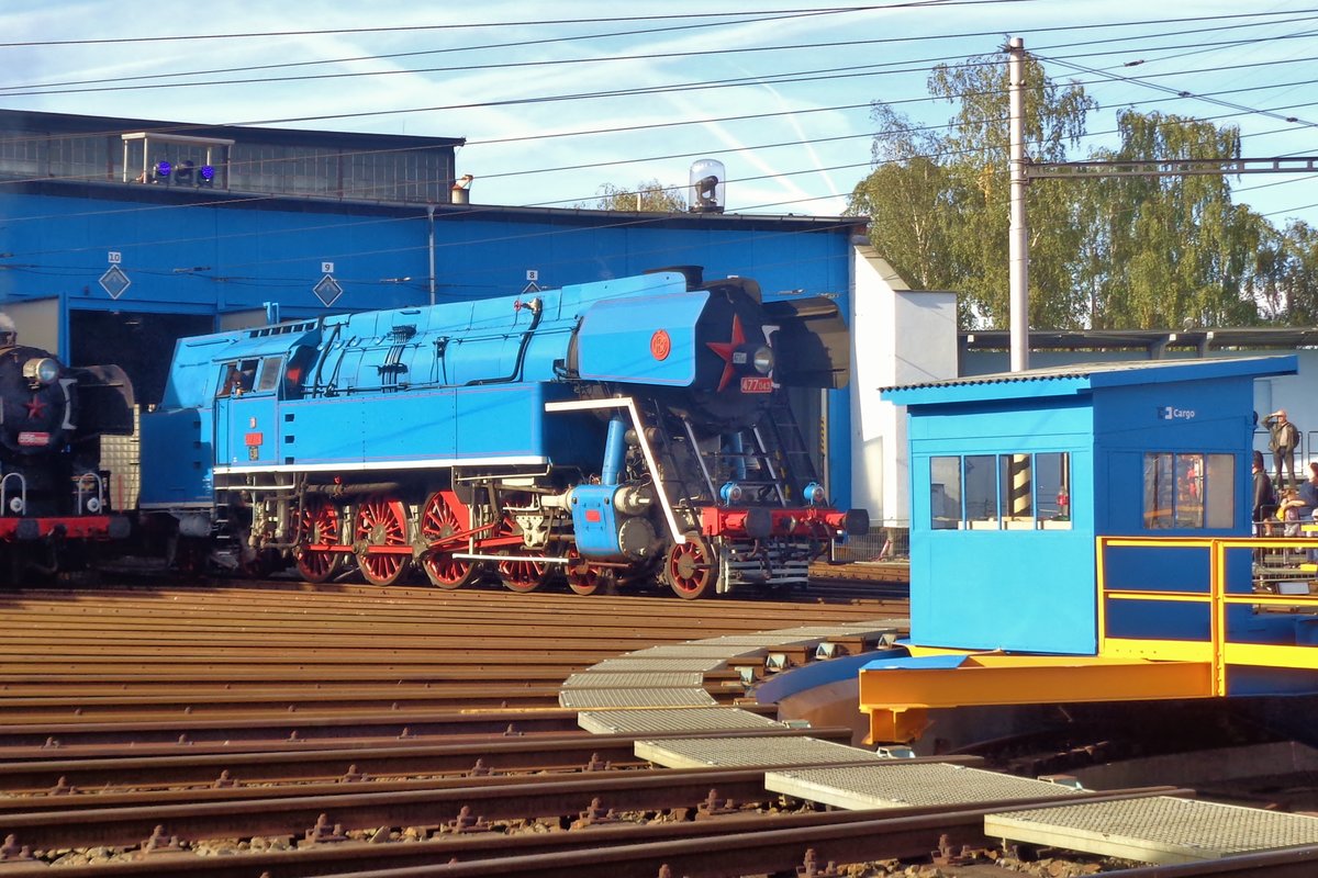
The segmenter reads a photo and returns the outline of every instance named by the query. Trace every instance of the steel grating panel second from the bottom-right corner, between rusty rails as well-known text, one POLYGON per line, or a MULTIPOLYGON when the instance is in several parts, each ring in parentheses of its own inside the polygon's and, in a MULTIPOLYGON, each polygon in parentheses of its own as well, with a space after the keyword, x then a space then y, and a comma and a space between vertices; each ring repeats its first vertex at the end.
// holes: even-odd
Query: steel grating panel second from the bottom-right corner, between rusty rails
POLYGON ((1077 792, 1046 781, 905 760, 849 769, 771 771, 764 775, 764 788, 849 810, 1062 798, 1077 792))

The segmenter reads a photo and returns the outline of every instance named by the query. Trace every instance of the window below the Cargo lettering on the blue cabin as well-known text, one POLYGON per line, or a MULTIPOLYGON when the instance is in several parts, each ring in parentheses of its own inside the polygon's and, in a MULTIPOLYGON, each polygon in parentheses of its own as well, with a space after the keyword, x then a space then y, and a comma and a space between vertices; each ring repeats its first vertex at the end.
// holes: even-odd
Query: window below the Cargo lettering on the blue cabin
POLYGON ((1144 455, 1147 529, 1227 529, 1234 524, 1234 454, 1155 452, 1144 455))

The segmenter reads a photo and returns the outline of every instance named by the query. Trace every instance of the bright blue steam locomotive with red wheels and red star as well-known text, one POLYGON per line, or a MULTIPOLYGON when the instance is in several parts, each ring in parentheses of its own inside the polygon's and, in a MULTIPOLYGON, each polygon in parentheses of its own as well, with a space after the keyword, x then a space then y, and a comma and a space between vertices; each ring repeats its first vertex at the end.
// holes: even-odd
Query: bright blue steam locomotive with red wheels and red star
POLYGON ((185 338, 140 505, 312 582, 803 584, 869 527, 828 504, 787 404, 847 357, 832 301, 691 267, 185 338))

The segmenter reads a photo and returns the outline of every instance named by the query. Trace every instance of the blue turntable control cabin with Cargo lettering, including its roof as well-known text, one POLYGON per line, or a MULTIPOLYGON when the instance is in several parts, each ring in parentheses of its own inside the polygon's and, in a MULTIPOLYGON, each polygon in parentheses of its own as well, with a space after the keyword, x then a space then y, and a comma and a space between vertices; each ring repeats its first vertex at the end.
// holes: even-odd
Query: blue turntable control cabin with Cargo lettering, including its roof
MULTIPOLYGON (((909 421, 912 644, 1101 652, 1095 537, 1249 536, 1253 380, 1297 369, 1141 361, 884 390, 909 421)), ((1112 553, 1104 573, 1177 588, 1205 558, 1112 553)), ((1231 565, 1227 590, 1251 588, 1231 565)), ((1201 604, 1126 603, 1104 608, 1106 637, 1205 624, 1201 604)))

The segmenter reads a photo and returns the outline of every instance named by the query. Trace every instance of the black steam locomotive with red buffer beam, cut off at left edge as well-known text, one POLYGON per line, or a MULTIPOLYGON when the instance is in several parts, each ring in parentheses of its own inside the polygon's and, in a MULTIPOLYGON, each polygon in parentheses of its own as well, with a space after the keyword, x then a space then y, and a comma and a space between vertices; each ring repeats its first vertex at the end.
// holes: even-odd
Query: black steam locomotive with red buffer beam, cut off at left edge
POLYGON ((18 344, 0 315, 0 581, 83 567, 128 537, 112 513, 100 437, 133 432, 133 388, 117 366, 72 369, 18 344))

